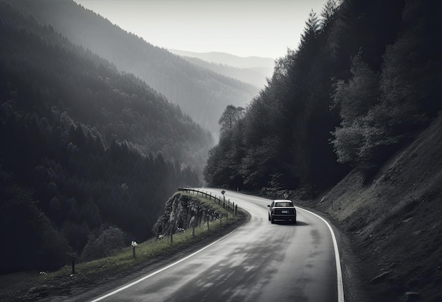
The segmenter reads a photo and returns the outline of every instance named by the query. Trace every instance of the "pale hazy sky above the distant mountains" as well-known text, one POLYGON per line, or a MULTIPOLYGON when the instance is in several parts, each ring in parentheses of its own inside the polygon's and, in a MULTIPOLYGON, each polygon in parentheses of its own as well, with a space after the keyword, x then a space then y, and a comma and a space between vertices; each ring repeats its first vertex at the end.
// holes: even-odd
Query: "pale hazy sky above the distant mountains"
POLYGON ((189 52, 285 56, 326 0, 74 0, 151 44, 189 52))

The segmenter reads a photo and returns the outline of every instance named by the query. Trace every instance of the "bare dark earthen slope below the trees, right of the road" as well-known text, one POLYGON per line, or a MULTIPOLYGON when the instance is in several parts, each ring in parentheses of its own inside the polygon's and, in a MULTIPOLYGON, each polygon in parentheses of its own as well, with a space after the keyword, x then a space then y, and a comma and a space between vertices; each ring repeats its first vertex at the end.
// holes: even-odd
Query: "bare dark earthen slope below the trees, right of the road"
POLYGON ((352 171, 317 200, 354 239, 369 301, 442 301, 441 150, 439 116, 372 179, 352 171))

